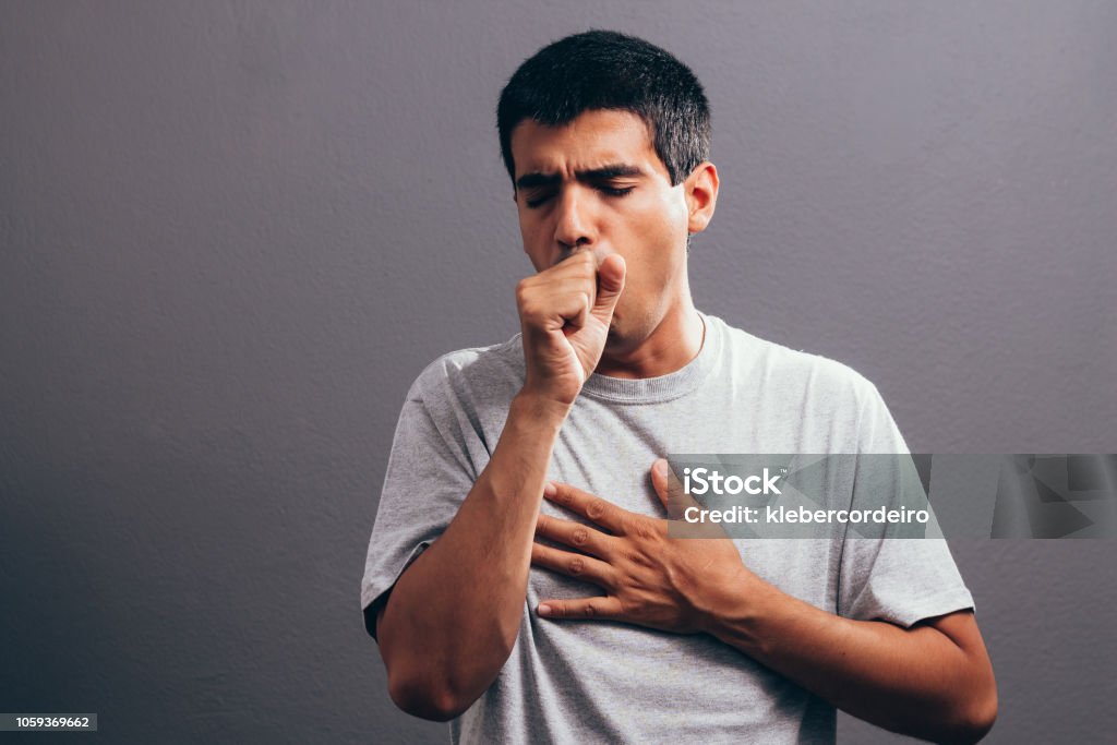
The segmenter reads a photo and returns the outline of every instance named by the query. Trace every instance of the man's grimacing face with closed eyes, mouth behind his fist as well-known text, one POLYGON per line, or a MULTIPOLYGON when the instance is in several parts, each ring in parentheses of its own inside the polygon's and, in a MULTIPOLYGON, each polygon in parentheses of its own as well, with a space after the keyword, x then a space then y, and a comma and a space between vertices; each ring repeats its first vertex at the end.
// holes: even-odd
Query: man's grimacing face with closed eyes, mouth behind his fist
POLYGON ((689 292, 688 208, 636 114, 589 111, 548 127, 531 120, 512 134, 524 250, 542 271, 576 251, 624 257, 624 293, 610 343, 632 348, 689 292))

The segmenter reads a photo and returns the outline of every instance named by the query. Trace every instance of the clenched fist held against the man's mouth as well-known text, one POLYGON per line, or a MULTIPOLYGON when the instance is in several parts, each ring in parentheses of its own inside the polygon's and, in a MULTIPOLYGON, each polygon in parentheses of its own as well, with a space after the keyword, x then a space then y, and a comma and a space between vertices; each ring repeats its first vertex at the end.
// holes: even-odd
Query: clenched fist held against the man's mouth
POLYGON ((521 280, 516 306, 523 329, 524 391, 570 405, 598 366, 609 323, 624 289, 624 259, 591 251, 521 280))

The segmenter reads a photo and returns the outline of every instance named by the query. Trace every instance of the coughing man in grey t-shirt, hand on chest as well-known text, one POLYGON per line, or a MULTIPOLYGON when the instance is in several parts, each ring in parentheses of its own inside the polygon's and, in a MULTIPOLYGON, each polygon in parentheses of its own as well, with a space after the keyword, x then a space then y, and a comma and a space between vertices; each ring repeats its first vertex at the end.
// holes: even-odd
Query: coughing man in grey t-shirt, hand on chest
POLYGON ((572 36, 498 126, 537 274, 522 334, 436 361, 400 416, 362 585, 392 699, 455 742, 828 742, 833 707, 983 736, 942 541, 667 535, 668 453, 906 452, 863 378, 695 309, 718 174, 691 71, 572 36))

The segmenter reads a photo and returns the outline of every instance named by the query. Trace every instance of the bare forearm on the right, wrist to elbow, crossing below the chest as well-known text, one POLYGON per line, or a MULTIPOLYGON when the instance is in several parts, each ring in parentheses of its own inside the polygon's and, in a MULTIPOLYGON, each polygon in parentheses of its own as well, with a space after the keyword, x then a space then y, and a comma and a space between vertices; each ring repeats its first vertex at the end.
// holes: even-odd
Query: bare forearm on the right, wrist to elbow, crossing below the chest
POLYGON ((708 631, 858 718, 937 742, 975 742, 995 717, 992 668, 972 617, 948 618, 943 628, 953 636, 855 621, 753 575, 718 601, 708 631))

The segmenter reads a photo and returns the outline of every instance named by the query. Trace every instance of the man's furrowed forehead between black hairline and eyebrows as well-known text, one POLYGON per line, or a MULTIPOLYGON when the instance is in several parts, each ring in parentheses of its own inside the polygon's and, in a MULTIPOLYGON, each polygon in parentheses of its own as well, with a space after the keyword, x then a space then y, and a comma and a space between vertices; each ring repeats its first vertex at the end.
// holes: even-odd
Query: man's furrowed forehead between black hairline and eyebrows
POLYGON ((524 173, 562 173, 618 163, 667 176, 648 125, 632 112, 583 112, 561 126, 524 120, 512 132, 512 157, 516 178, 524 173))

